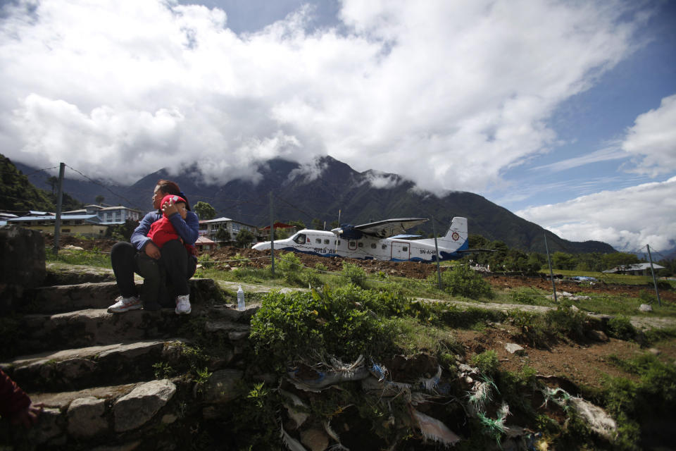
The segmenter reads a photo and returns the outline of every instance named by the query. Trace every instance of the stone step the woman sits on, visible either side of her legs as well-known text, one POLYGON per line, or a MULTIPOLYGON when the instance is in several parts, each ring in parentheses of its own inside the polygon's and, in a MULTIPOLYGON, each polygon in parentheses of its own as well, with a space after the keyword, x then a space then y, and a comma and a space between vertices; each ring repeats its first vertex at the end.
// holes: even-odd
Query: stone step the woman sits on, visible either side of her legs
MULTIPOLYGON (((139 292, 142 284, 137 284, 139 292)), ((222 297, 218 285, 212 279, 190 280, 190 302, 201 303, 206 299, 222 297)), ((82 309, 106 309, 118 297, 115 282, 77 283, 54 285, 29 290, 26 302, 18 310, 24 313, 63 313, 82 309)))

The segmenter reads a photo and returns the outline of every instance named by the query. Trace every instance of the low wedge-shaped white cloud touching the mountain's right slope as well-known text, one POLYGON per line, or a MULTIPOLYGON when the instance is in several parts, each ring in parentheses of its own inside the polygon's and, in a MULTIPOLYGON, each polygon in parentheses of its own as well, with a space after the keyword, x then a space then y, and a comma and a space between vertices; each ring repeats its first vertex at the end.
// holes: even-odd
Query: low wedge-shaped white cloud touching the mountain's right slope
POLYGON ((676 245, 676 177, 515 213, 572 241, 597 240, 634 252, 676 245))

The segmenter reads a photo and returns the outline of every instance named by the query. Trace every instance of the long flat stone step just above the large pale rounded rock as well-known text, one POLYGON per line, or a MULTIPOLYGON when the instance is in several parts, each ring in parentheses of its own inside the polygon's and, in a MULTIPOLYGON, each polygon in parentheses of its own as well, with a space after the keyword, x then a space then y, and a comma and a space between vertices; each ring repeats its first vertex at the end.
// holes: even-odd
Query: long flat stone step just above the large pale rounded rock
POLYGON ((93 385, 131 383, 154 376, 154 364, 187 368, 187 340, 139 340, 113 345, 42 352, 0 363, 24 390, 77 390, 93 385))

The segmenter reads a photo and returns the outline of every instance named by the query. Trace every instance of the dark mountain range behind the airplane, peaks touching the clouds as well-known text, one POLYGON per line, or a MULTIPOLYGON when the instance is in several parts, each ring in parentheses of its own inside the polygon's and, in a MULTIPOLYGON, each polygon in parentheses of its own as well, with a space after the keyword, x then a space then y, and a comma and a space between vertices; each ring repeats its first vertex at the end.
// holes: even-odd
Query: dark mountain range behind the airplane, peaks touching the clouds
MULTIPOLYGON (((94 203, 97 196, 111 205, 125 205, 148 211, 157 180, 168 178, 180 185, 189 202, 211 204, 217 216, 226 216, 253 226, 270 224, 270 193, 275 221, 300 220, 308 226, 314 218, 328 226, 340 223, 360 224, 387 218, 434 218, 435 231, 445 233, 453 216, 468 218, 470 235, 499 240, 508 247, 525 252, 545 252, 546 235, 549 252, 615 252, 604 242, 572 242, 526 221, 507 209, 471 192, 434 194, 418 189, 413 182, 392 173, 358 172, 341 161, 324 156, 312 166, 294 161, 273 159, 258 165, 260 181, 230 180, 223 184, 204 183, 199 169, 188 168, 181 175, 169 175, 165 169, 146 175, 130 186, 110 185, 87 180, 66 171, 63 190, 70 196, 94 203), (77 178, 75 178, 77 176, 77 178)), ((30 166, 15 163, 39 188, 50 187, 49 175, 30 166)), ((429 235, 432 221, 410 233, 429 235)))

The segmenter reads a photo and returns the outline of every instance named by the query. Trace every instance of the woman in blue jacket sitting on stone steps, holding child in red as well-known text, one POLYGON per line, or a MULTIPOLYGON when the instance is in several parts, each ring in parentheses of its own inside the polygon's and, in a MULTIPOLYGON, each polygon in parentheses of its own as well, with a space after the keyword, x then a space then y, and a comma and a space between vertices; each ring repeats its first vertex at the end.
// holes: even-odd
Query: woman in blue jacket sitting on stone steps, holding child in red
POLYGON ((191 311, 188 280, 195 273, 197 259, 194 252, 184 245, 194 245, 197 240, 199 219, 189 211, 185 194, 170 180, 158 181, 153 193, 153 206, 157 211, 144 216, 132 233, 131 242, 115 243, 111 249, 111 265, 120 289, 120 297, 115 299, 117 302, 108 307, 111 313, 141 307, 145 310, 175 307, 176 314, 189 314, 191 311), (188 211, 185 218, 182 218, 175 203, 162 202, 168 194, 175 194, 186 201, 188 211), (160 249, 147 235, 153 223, 161 221, 163 214, 182 242, 170 240, 160 249), (140 298, 134 285, 134 272, 144 278, 140 298), (167 281, 173 285, 173 295, 168 290, 167 281))

